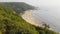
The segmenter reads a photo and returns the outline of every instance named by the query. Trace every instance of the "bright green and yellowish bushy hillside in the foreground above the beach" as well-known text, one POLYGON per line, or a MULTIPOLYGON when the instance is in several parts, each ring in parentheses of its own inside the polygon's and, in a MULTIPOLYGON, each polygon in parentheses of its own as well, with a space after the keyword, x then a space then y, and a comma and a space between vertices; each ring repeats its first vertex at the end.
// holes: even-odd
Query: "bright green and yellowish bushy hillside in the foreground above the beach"
POLYGON ((26 22, 11 8, 0 4, 0 34, 57 34, 26 22))

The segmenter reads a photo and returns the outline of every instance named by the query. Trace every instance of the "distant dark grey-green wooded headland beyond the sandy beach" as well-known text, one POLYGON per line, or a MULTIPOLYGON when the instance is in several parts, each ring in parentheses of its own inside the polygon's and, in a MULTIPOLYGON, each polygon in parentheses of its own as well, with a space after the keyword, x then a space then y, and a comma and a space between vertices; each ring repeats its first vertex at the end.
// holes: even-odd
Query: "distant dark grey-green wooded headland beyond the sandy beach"
POLYGON ((36 7, 34 7, 32 5, 28 5, 27 3, 24 3, 24 2, 4 2, 2 4, 4 4, 7 7, 12 8, 18 14, 24 13, 24 11, 26 11, 26 10, 36 9, 36 7))

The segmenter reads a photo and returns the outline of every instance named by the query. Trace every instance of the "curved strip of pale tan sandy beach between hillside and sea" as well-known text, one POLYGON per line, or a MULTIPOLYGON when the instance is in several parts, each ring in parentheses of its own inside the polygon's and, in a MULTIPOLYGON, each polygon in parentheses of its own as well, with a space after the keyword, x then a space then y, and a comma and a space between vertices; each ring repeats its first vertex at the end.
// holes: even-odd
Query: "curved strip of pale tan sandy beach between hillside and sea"
POLYGON ((35 19, 32 17, 32 15, 31 15, 31 13, 32 13, 32 10, 27 10, 27 11, 25 11, 25 13, 23 14, 23 15, 21 15, 22 16, 22 18, 24 19, 24 20, 26 20, 28 23, 30 23, 30 24, 33 24, 33 25, 35 25, 35 26, 39 26, 39 27, 44 27, 42 24, 40 24, 40 23, 38 23, 37 21, 35 21, 35 19))

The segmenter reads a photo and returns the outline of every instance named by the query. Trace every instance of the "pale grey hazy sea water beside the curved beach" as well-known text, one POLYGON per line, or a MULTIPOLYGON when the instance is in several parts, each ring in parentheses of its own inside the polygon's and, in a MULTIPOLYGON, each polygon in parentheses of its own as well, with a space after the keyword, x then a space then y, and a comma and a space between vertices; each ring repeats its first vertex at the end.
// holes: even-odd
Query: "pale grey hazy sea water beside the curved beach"
POLYGON ((33 10, 32 16, 39 22, 49 25, 54 31, 60 33, 60 7, 41 7, 33 10))

